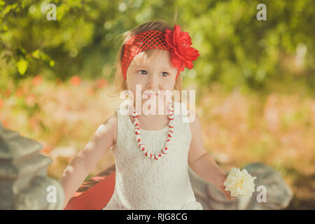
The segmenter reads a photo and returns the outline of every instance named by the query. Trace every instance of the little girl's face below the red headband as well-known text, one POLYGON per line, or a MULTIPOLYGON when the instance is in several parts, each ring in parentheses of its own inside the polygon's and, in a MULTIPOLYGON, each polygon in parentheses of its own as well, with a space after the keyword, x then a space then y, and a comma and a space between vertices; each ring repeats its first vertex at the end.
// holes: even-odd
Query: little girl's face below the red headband
MULTIPOLYGON (((176 74, 177 68, 172 66, 172 57, 169 50, 155 49, 153 55, 149 58, 144 52, 141 52, 134 57, 127 69, 127 89, 132 91, 134 99, 141 99, 141 105, 143 105, 152 97, 150 93, 158 94, 158 90, 172 92, 175 86, 176 74), (141 92, 136 92, 137 85, 138 88, 141 87, 141 92), (141 93, 141 96, 137 96, 137 93, 141 93)), ((161 97, 162 99, 163 94, 153 97, 155 97, 158 106, 158 98, 161 97)), ((165 98, 164 100, 168 99, 165 98)), ((164 102, 164 105, 167 104, 164 102)))

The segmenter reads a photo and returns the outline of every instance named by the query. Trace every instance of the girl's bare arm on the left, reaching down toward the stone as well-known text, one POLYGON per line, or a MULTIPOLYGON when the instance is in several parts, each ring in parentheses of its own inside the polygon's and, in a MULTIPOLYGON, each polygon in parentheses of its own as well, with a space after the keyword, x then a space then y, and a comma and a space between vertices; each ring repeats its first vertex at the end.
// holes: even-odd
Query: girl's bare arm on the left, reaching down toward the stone
POLYGON ((109 151, 113 144, 116 144, 116 134, 117 115, 115 114, 102 125, 99 125, 92 139, 66 167, 59 180, 64 188, 64 207, 66 207, 71 196, 78 190, 86 176, 92 172, 104 153, 109 151))

